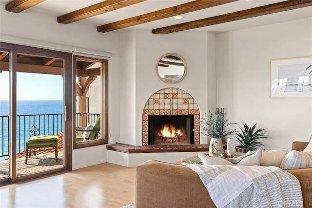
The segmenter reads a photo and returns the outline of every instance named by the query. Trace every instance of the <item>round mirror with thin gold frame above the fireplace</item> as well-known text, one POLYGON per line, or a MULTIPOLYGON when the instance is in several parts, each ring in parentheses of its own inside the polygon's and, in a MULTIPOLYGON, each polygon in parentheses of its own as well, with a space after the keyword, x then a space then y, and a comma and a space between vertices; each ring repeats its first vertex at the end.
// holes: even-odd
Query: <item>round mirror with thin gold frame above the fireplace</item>
POLYGON ((186 62, 175 54, 168 53, 160 57, 157 62, 156 72, 160 80, 165 83, 178 83, 186 74, 186 62))

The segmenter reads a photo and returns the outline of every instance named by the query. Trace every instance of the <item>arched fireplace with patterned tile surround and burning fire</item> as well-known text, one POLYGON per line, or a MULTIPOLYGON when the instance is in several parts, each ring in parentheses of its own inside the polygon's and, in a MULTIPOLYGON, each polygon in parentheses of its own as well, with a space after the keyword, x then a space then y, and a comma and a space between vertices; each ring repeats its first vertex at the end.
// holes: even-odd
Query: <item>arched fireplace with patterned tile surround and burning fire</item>
POLYGON ((200 128, 199 116, 198 105, 189 93, 178 88, 161 89, 144 106, 142 144, 200 144, 199 131, 193 131, 200 128), (165 125, 171 135, 159 136, 165 125))

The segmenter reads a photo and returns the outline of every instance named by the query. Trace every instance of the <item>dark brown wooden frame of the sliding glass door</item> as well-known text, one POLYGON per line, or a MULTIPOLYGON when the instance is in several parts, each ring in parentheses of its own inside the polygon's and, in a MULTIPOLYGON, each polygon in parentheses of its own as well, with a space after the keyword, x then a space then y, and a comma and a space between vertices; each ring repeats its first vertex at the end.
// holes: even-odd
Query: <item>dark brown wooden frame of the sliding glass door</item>
MULTIPOLYGON (((12 43, 0 42, 0 50, 9 52, 9 178, 3 178, 0 182, 15 182, 30 178, 36 178, 55 172, 72 170, 72 134, 73 131, 73 70, 72 54, 36 47, 17 45, 12 43), (40 57, 53 57, 63 59, 63 167, 38 172, 30 175, 19 176, 16 174, 16 135, 17 135, 17 54, 29 54, 40 57)), ((74 76, 76 78, 76 75, 74 76)))

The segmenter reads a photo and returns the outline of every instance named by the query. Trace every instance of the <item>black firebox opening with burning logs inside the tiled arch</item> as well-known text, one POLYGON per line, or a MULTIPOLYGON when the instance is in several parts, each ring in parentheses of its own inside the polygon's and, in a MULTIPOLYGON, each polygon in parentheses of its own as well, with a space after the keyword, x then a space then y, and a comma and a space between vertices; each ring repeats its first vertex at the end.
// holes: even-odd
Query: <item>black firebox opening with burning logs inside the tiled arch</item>
POLYGON ((149 145, 194 144, 194 115, 149 115, 149 145))

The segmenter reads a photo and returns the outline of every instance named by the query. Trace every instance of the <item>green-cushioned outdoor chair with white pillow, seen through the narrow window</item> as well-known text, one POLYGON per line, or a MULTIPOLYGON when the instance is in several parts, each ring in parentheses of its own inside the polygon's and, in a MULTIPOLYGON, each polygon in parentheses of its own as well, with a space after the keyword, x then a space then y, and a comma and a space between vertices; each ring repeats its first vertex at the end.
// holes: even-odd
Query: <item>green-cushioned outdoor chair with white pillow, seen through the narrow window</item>
POLYGON ((93 125, 88 125, 87 127, 76 127, 76 131, 83 131, 83 134, 77 134, 77 142, 95 140, 98 139, 98 134, 100 131, 101 117, 98 116, 97 120, 93 125))

